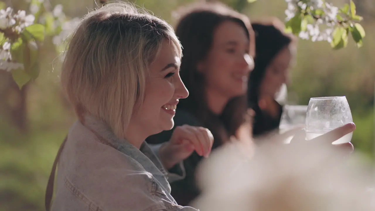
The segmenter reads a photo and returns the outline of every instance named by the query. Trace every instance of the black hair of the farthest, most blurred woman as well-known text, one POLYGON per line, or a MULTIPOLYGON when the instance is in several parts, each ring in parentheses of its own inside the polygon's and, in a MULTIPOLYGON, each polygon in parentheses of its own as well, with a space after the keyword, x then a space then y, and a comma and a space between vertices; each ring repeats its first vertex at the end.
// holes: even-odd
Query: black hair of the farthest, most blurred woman
POLYGON ((249 107, 258 106, 260 85, 266 75, 267 66, 285 47, 294 42, 292 35, 282 32, 281 26, 273 22, 253 23, 255 32, 255 67, 248 82, 249 107))

